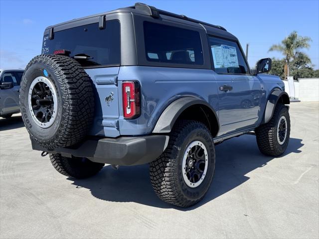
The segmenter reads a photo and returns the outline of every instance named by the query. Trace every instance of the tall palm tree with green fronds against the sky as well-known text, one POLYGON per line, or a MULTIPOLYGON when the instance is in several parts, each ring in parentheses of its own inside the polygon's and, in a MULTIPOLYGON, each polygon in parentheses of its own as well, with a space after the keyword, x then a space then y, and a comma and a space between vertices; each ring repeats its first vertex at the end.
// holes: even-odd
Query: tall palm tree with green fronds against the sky
POLYGON ((295 58, 295 55, 297 53, 297 50, 300 48, 309 48, 311 41, 310 37, 307 36, 299 36, 297 34, 297 31, 293 31, 289 34, 288 37, 286 37, 281 44, 275 44, 270 47, 269 51, 280 51, 285 55, 286 65, 287 67, 287 76, 289 76, 290 73, 290 62, 291 59, 295 58))

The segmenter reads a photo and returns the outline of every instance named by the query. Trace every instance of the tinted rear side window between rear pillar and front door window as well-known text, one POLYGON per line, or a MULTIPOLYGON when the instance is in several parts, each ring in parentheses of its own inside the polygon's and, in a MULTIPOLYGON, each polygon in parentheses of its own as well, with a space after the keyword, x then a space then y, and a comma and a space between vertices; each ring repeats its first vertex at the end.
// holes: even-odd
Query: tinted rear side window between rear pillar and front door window
POLYGON ((197 31, 145 21, 144 40, 148 61, 203 65, 197 31))

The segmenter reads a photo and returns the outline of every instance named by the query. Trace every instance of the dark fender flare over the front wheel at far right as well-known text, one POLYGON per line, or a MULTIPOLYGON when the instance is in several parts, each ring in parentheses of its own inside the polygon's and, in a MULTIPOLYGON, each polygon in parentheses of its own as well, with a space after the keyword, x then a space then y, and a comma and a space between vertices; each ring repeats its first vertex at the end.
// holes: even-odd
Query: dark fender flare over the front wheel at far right
POLYGON ((264 119, 261 124, 268 123, 269 120, 273 117, 276 105, 278 104, 278 101, 280 99, 282 99, 282 103, 287 105, 290 104, 289 96, 285 91, 274 90, 268 97, 264 119))

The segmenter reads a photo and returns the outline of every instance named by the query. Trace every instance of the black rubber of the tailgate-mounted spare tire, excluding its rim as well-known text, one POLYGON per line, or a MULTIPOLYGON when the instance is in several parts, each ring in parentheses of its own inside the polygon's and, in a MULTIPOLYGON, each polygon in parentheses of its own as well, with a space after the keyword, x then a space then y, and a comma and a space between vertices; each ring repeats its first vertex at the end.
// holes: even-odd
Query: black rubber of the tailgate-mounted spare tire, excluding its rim
POLYGON ((22 119, 30 137, 45 148, 67 147, 87 134, 94 116, 92 81, 81 65, 62 55, 39 55, 26 66, 20 89, 22 119), (46 77, 57 95, 57 115, 50 127, 42 128, 32 119, 28 106, 31 82, 46 77))

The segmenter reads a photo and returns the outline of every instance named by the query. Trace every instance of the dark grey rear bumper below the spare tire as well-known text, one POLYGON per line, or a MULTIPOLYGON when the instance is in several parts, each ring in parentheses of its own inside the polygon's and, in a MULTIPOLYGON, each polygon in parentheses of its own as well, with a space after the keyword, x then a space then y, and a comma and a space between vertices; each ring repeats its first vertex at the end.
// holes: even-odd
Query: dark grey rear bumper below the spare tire
POLYGON ((154 161, 167 147, 166 135, 88 139, 76 147, 48 150, 32 140, 32 149, 63 156, 86 157, 93 162, 139 165, 154 161))

